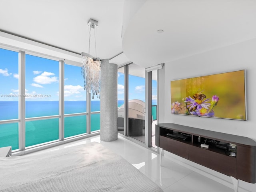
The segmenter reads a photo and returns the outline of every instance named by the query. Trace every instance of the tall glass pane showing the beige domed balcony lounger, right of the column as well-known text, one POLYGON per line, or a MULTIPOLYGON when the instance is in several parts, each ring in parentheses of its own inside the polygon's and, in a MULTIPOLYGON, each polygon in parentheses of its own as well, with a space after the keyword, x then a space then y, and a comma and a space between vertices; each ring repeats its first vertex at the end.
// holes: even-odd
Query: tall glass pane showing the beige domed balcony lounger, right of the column
POLYGON ((145 142, 145 68, 128 65, 128 129, 127 135, 145 142))

